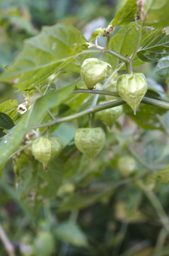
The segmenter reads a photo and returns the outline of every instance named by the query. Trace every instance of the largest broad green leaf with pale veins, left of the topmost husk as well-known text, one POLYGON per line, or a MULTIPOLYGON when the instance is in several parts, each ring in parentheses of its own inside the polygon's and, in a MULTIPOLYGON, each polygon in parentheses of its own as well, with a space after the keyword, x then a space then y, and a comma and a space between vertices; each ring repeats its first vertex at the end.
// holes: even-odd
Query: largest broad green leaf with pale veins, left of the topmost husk
MULTIPOLYGON (((25 41, 23 51, 1 74, 0 81, 28 90, 74 60, 81 52, 81 43, 81 33, 73 26, 46 26, 37 36, 25 41)), ((80 67, 80 60, 66 66, 71 71, 80 71, 80 67)))

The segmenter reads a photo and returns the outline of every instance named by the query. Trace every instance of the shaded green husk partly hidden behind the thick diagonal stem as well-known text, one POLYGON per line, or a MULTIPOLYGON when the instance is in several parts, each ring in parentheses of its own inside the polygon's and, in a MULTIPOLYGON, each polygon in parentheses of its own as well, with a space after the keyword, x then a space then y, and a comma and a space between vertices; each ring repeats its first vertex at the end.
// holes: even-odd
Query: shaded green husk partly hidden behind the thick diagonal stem
MULTIPOLYGON (((100 102, 100 104, 104 104, 107 102, 100 102)), ((122 115, 122 113, 123 107, 122 105, 120 105, 117 107, 109 108, 107 110, 101 110, 96 113, 96 117, 98 117, 101 121, 105 122, 109 127, 112 127, 112 124, 115 124, 115 122, 122 115)))

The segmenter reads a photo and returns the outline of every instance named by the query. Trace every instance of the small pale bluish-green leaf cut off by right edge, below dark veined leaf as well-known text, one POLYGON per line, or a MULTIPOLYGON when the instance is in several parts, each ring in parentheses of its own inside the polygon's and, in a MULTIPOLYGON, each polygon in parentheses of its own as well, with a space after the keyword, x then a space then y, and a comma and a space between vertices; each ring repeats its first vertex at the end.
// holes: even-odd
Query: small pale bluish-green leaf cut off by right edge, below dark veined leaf
POLYGON ((158 61, 154 73, 161 77, 169 77, 169 56, 163 57, 158 61))

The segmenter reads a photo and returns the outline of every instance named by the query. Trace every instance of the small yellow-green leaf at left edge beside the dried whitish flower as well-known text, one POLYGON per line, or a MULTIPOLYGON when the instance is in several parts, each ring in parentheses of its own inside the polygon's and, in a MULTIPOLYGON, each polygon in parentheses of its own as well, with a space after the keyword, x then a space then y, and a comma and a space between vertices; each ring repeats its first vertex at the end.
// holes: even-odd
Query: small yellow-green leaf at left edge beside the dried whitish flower
POLYGON ((11 119, 14 119, 14 117, 16 117, 17 107, 17 100, 7 100, 6 102, 0 104, 0 112, 8 114, 8 116, 11 117, 11 119))

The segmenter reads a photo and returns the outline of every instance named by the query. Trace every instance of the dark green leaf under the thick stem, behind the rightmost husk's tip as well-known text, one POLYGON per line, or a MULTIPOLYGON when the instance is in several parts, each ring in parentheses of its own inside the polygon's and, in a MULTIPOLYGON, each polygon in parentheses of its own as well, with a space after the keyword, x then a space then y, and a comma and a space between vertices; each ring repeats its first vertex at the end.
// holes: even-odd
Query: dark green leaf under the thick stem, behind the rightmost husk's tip
POLYGON ((159 107, 153 107, 151 105, 141 104, 136 114, 133 114, 131 107, 124 105, 124 112, 128 114, 136 124, 143 129, 159 129, 164 131, 161 121, 158 119, 158 115, 163 115, 167 110, 160 109, 159 107))

